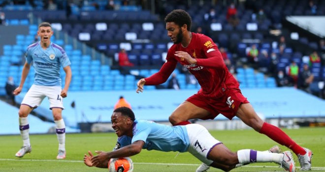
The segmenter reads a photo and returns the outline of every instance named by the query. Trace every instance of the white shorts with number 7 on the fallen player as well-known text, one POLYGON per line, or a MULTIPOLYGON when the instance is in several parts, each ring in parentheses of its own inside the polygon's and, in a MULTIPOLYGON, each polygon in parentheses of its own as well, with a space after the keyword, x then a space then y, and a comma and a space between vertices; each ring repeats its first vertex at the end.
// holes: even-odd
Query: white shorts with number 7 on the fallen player
POLYGON ((186 129, 190 139, 188 151, 204 164, 212 164, 213 161, 208 159, 209 153, 214 146, 221 144, 221 142, 211 136, 202 125, 188 124, 186 129))

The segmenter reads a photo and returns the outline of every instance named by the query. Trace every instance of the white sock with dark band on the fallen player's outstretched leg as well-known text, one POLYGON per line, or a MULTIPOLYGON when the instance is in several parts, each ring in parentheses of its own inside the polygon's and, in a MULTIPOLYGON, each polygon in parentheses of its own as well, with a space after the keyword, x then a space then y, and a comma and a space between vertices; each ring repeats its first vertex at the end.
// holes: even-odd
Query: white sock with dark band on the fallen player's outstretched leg
POLYGON ((261 152, 251 149, 238 150, 238 161, 240 164, 246 165, 247 163, 259 163, 259 162, 281 162, 283 154, 261 152))

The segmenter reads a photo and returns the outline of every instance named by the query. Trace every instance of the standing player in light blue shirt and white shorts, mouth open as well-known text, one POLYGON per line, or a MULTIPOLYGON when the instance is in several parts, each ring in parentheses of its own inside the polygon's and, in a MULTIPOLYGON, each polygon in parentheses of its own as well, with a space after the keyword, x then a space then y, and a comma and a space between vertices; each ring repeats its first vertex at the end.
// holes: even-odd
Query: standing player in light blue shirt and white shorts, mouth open
POLYGON ((29 139, 30 126, 27 116, 41 104, 45 97, 48 97, 59 140, 57 159, 63 159, 65 158, 65 122, 62 118, 62 110, 64 109, 63 98, 67 96, 72 77, 71 63, 63 48, 50 41, 53 30, 49 23, 41 23, 38 26, 37 34, 40 36, 40 41, 28 47, 21 82, 19 87, 14 91, 15 95, 18 95, 22 91, 33 61, 35 69, 34 84, 25 95, 19 109, 19 129, 24 145, 16 153, 16 157, 21 158, 26 153, 32 151, 29 139), (65 87, 63 89, 61 87, 60 76, 61 66, 66 74, 65 87))

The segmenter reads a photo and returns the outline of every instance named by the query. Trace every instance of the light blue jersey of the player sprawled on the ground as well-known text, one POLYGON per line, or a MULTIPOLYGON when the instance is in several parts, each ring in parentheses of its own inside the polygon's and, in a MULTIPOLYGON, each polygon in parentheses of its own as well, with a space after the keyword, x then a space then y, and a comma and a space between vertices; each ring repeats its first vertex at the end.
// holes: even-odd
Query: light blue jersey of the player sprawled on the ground
POLYGON ((122 136, 117 139, 114 150, 130 145, 135 141, 144 141, 143 149, 164 152, 186 152, 190 145, 185 126, 167 126, 153 121, 135 119, 133 137, 122 136))

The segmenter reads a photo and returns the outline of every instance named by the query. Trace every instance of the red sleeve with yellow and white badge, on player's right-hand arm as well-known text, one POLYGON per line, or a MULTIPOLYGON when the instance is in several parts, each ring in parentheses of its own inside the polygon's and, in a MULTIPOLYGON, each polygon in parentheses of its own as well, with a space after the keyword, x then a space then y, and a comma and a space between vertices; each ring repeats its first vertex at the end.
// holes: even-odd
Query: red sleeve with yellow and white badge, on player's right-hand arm
POLYGON ((196 58, 196 64, 198 66, 210 67, 210 68, 221 68, 224 67, 224 59, 217 47, 217 45, 212 41, 211 38, 203 36, 200 38, 199 46, 204 52, 207 58, 196 58))

